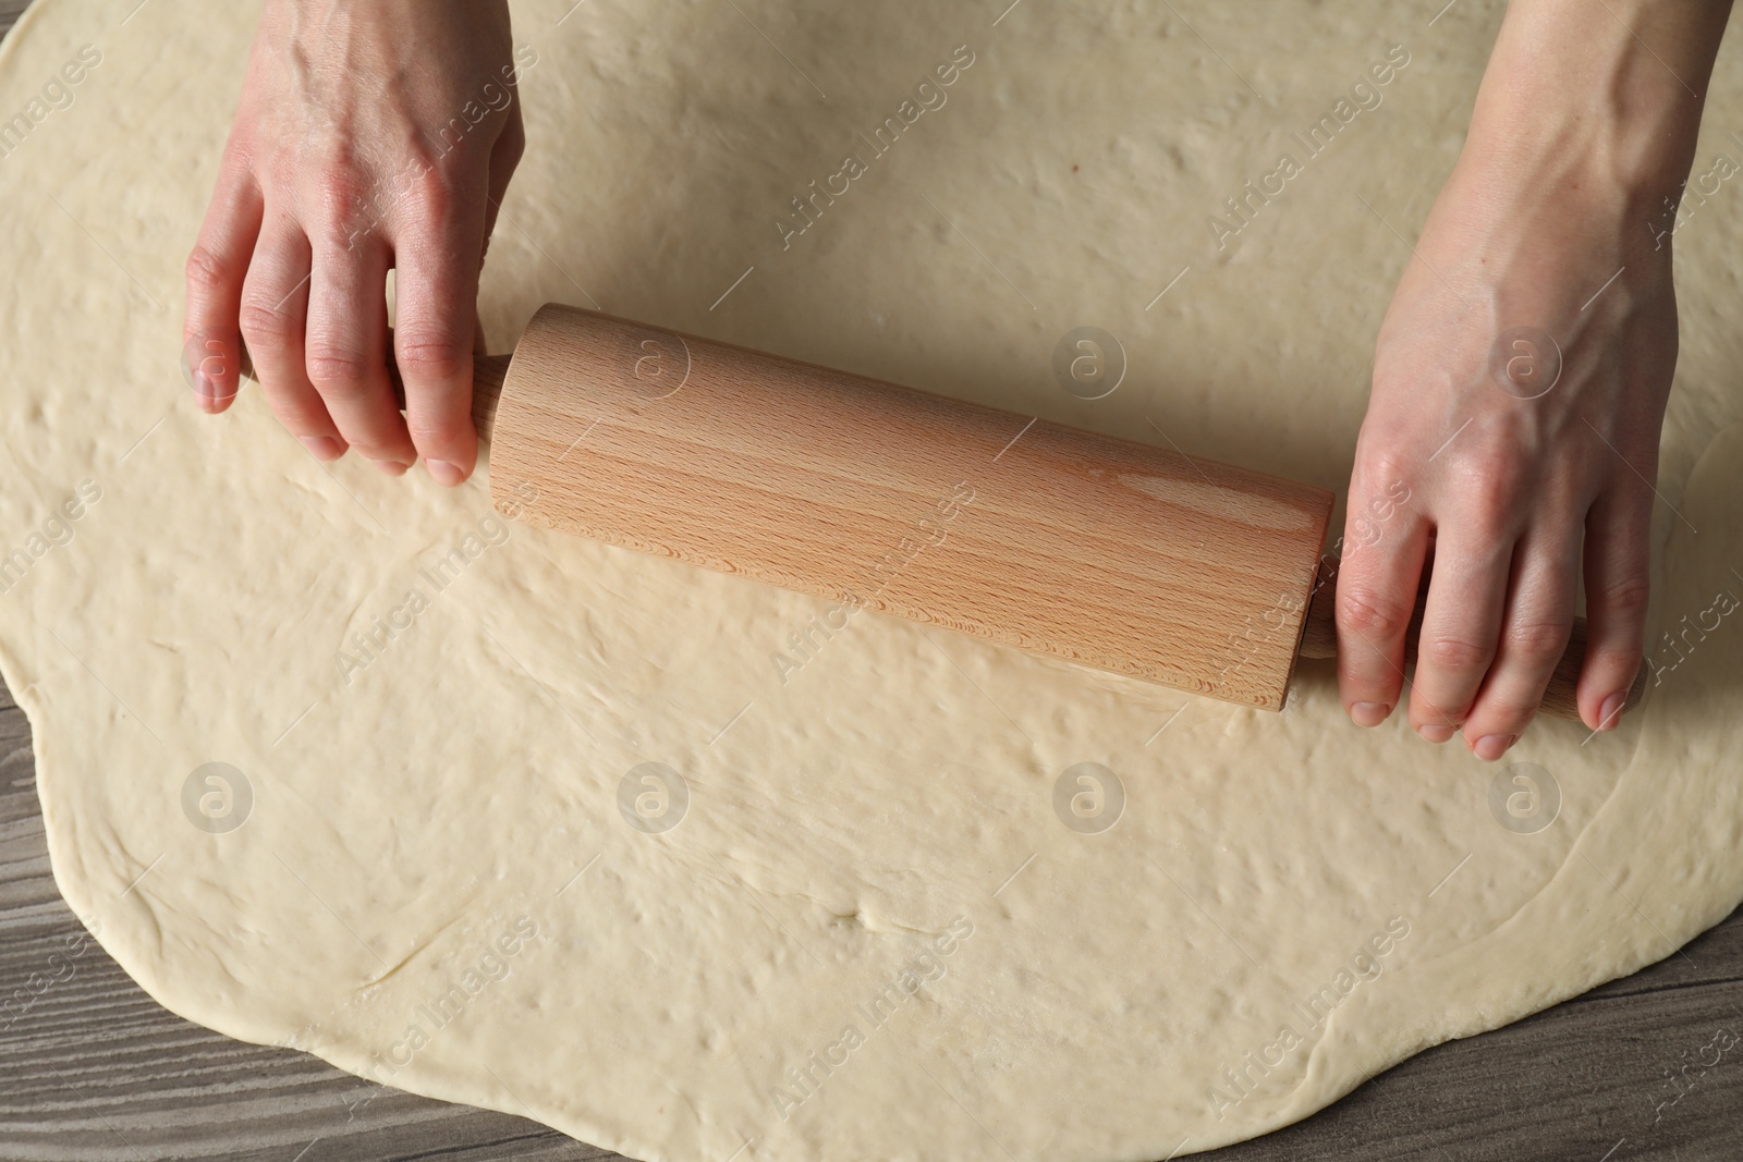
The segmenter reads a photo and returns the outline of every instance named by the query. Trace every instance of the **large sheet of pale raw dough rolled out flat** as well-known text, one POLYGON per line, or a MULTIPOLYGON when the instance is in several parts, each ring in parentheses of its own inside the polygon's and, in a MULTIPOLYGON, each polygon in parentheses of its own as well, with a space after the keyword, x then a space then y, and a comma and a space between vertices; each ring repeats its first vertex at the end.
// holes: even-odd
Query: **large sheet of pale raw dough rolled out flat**
MULTIPOLYGON (((598 303, 1333 488, 1501 12, 570 3, 516 7, 498 347, 598 303), (1224 199, 1393 45, 1379 106, 1218 249, 1224 199), (777 226, 845 153, 849 192, 777 226), (1077 326, 1124 343, 1105 399, 1051 375, 1077 326)), ((1679 239, 1656 622, 1685 645, 1619 732, 1539 723, 1506 775, 1349 726, 1325 665, 1267 714, 863 615, 783 685, 826 605, 326 470, 258 390, 199 415, 181 261, 254 14, 54 0, 0 57, 31 118, 0 160, 0 662, 56 880, 174 1012, 641 1159, 1159 1159, 1738 904, 1738 190, 1679 239)), ((1740 113, 1726 54, 1698 172, 1740 113)))

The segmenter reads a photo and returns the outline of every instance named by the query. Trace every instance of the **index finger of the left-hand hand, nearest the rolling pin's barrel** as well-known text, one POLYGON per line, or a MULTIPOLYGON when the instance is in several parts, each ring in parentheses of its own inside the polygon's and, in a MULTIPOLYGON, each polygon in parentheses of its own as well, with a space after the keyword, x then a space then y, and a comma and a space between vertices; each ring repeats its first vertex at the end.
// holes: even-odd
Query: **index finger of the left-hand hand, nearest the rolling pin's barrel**
POLYGON ((472 336, 483 242, 483 190, 462 213, 411 223, 396 239, 394 362, 406 385, 406 425, 431 477, 446 486, 478 463, 472 336))

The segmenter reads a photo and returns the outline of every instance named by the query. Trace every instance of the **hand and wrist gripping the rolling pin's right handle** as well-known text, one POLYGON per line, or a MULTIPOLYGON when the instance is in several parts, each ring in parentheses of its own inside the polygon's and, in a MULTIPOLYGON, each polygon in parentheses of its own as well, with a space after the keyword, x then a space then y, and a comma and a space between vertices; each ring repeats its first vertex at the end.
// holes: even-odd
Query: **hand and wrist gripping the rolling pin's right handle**
POLYGON ((1530 721, 1581 571, 1588 726, 1614 728, 1642 657, 1677 362, 1665 199, 1699 122, 1684 84, 1705 87, 1729 5, 1614 7, 1508 10, 1466 148, 1380 326, 1356 446, 1337 584, 1344 706, 1372 726, 1398 704, 1429 573, 1410 723, 1433 742, 1462 730, 1485 760, 1530 721))

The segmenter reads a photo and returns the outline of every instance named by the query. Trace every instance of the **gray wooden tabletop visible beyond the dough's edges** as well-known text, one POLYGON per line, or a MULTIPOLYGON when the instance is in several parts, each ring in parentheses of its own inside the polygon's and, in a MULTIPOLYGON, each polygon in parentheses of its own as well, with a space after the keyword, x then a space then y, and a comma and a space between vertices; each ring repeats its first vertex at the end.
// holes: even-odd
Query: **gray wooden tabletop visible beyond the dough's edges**
MULTIPOLYGON (((24 7, 0 0, 0 33, 24 7)), ((30 726, 0 690, 0 1159, 617 1157, 535 1122, 227 1040, 159 1009, 96 942, 66 956, 82 929, 49 875, 33 770, 30 726), (51 967, 56 953, 64 958, 51 967), (31 995, 31 976, 49 972, 59 979, 31 995)), ((1743 911, 1633 977, 1421 1054, 1278 1134, 1196 1157, 1731 1162, 1743 1159, 1743 1045, 1699 1064, 1720 1028, 1743 1035, 1743 911)))

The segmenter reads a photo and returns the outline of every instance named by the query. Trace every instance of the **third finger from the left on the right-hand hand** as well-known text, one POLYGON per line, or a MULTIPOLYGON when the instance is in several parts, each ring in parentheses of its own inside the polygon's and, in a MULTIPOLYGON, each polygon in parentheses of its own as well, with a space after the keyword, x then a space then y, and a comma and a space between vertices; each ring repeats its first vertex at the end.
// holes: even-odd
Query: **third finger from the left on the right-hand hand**
POLYGON ((1579 530, 1534 530, 1513 552, 1499 648, 1464 719, 1464 744, 1495 761, 1525 733, 1574 624, 1579 530))

